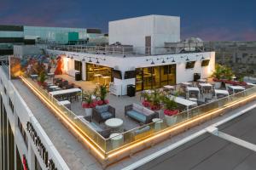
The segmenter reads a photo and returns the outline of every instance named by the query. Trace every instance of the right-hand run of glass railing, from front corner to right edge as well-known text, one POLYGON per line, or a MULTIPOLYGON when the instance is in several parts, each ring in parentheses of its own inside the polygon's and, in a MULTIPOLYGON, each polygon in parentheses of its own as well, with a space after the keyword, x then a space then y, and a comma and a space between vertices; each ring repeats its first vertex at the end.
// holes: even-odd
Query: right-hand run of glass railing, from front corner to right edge
POLYGON ((211 103, 207 103, 205 105, 197 106, 189 111, 183 111, 179 113, 177 116, 173 116, 172 122, 166 122, 166 120, 160 120, 158 122, 151 122, 143 127, 137 127, 127 131, 125 133, 120 133, 113 138, 109 138, 106 141, 106 151, 109 152, 111 150, 118 149, 127 144, 136 143, 138 140, 148 138, 157 133, 165 131, 167 128, 172 128, 179 123, 186 122, 195 118, 196 116, 202 116, 207 114, 208 112, 212 112, 214 110, 225 108, 228 105, 232 105, 241 99, 245 99, 251 95, 256 94, 256 87, 248 88, 245 91, 239 92, 237 94, 229 95, 225 98, 218 99, 212 101, 211 103))

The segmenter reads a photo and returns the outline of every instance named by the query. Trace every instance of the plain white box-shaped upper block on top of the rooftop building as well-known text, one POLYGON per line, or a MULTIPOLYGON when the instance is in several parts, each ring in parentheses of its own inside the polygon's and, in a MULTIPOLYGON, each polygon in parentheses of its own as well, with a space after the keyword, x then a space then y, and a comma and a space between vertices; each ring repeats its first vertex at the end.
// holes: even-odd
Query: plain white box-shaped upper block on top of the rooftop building
POLYGON ((145 47, 145 37, 151 36, 151 47, 163 47, 164 42, 180 41, 180 18, 148 15, 115 20, 108 23, 108 31, 109 44, 121 42, 124 45, 145 47))

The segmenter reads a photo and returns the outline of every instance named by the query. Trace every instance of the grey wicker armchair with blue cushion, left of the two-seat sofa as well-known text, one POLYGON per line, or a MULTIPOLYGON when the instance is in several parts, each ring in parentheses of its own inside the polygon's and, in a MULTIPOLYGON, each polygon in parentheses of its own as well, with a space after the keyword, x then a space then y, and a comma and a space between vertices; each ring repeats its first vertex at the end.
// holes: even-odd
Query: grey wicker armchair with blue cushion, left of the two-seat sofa
POLYGON ((96 122, 105 122, 115 117, 115 109, 111 105, 97 105, 92 110, 92 118, 96 122))

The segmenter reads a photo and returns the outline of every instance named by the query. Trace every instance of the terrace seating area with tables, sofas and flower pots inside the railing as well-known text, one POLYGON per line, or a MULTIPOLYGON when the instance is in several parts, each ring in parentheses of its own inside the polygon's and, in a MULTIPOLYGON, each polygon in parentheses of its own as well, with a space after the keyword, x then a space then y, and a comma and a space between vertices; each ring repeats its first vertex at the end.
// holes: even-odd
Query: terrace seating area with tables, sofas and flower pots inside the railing
MULTIPOLYGON (((33 81, 37 79, 32 77, 33 81)), ((178 113, 251 87, 224 82, 218 87, 216 83, 212 79, 182 82, 159 89, 144 90, 138 92, 135 97, 117 97, 108 93, 107 86, 105 89, 103 85, 96 87, 98 89, 90 88, 90 93, 87 93, 86 86, 80 87, 80 84, 61 77, 48 78, 41 87, 57 99, 59 105, 72 111, 86 127, 104 139, 110 139, 110 148, 114 149, 125 141, 143 139, 163 127, 172 126, 180 119, 175 116, 178 113), (102 94, 102 91, 107 94, 102 94), (87 110, 91 110, 91 113, 87 110), (172 120, 168 120, 168 114, 172 120)))

